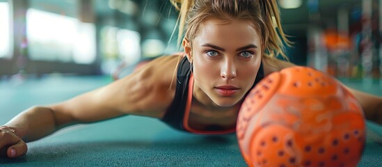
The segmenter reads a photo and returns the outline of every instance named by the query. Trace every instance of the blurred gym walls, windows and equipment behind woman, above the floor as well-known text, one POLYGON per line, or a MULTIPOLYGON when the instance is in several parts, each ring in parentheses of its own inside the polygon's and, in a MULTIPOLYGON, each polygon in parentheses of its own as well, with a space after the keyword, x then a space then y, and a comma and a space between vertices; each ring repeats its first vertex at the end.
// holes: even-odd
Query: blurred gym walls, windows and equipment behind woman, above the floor
MULTIPOLYGON (((278 3, 294 42, 287 48, 292 62, 340 79, 379 82, 381 0, 278 3)), ((168 0, 0 0, 0 80, 110 76, 180 51, 176 19, 168 0)))

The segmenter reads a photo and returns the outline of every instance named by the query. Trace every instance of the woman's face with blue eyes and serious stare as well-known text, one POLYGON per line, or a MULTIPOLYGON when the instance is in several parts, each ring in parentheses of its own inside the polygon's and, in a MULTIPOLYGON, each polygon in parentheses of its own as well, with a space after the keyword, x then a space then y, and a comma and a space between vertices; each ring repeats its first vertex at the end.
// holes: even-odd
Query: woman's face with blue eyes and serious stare
MULTIPOLYGON (((187 45, 185 45, 187 46, 187 45)), ((209 19, 192 42, 194 97, 233 106, 253 86, 260 67, 260 36, 250 22, 209 19), (200 91, 202 90, 202 91, 200 91)))

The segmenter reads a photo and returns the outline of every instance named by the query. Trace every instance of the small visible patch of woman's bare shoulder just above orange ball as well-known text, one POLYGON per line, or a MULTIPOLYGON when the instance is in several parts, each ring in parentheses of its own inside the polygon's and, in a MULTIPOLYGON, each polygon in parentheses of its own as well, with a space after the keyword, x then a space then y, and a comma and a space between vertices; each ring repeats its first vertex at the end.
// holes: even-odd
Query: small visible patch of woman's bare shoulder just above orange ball
POLYGON ((282 61, 277 58, 270 58, 269 56, 264 56, 262 63, 264 65, 265 75, 271 74, 272 72, 278 72, 286 67, 295 66, 294 63, 289 61, 282 61))

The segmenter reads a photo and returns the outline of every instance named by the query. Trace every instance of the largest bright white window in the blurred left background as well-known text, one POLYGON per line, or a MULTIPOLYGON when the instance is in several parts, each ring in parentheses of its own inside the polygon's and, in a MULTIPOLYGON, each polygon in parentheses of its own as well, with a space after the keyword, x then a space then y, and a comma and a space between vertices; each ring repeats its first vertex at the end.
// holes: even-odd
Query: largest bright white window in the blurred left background
POLYGON ((81 64, 95 61, 94 24, 31 8, 26 12, 26 25, 31 60, 81 64))

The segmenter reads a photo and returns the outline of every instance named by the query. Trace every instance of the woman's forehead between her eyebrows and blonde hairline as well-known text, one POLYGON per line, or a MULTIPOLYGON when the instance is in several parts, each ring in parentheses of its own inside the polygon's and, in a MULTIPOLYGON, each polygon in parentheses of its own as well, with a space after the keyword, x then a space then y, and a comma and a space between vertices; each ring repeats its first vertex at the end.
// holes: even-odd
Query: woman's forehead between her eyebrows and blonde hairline
POLYGON ((248 44, 260 46, 260 36, 250 21, 233 20, 227 22, 208 19, 200 26, 194 42, 240 45, 240 47, 248 44))

